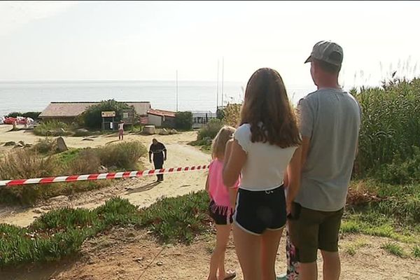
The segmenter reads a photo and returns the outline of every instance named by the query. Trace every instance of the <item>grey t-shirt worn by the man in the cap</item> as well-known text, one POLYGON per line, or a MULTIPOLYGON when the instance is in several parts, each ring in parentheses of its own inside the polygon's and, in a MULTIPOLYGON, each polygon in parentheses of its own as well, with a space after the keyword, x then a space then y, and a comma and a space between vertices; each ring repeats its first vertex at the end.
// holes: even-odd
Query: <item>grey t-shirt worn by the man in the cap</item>
POLYGON ((300 99, 298 110, 300 133, 310 144, 295 202, 319 211, 342 209, 356 157, 360 105, 343 90, 323 88, 300 99))

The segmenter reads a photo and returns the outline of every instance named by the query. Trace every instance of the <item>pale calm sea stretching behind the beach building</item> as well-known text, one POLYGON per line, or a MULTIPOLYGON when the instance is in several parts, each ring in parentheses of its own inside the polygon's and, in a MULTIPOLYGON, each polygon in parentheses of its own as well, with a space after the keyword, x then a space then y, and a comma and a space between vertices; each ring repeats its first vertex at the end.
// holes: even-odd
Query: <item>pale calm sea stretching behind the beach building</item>
MULTIPOLYGON (((241 102, 246 83, 216 81, 13 81, 0 82, 0 116, 10 112, 43 111, 50 102, 151 102, 153 109, 216 111, 216 106, 241 102), (223 90, 223 95, 222 95, 223 90), (223 96, 223 98, 222 98, 223 96)), ((290 87, 296 103, 314 88, 290 87)))

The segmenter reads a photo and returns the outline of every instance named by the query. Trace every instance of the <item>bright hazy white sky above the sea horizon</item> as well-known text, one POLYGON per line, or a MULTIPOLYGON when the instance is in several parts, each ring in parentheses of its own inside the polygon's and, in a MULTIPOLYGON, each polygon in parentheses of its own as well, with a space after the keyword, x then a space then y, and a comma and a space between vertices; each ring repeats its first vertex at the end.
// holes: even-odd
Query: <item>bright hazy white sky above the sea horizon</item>
POLYGON ((312 85, 321 40, 344 49, 340 83, 420 76, 419 1, 1 1, 0 80, 223 79, 271 67, 312 85))

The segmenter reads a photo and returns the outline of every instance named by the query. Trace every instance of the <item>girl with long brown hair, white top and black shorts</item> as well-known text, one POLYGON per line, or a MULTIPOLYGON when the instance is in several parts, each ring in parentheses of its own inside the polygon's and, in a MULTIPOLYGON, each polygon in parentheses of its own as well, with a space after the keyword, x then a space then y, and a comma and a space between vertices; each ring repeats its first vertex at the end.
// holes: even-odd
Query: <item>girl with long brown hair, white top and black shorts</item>
POLYGON ((295 112, 281 76, 273 69, 258 69, 246 85, 241 125, 223 170, 228 187, 235 186, 241 174, 233 237, 244 280, 276 279, 286 213, 300 184, 300 144, 295 112))

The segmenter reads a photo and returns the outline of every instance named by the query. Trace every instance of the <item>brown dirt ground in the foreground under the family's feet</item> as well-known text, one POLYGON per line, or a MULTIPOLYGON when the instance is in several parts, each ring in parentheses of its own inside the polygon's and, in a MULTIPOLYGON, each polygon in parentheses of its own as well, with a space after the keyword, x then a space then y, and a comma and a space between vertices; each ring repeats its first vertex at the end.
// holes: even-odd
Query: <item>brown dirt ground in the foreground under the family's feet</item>
MULTIPOLYGON (((389 255, 381 244, 389 241, 385 238, 363 235, 346 235, 340 241, 342 250, 342 276, 349 280, 379 279, 420 279, 420 262, 409 258, 389 255), (354 255, 346 253, 346 248, 353 244, 363 246, 354 255)), ((207 235, 197 239, 192 245, 158 244, 145 231, 134 229, 114 229, 106 235, 100 235, 83 244, 79 255, 71 260, 64 260, 53 265, 44 265, 19 271, 8 269, 0 272, 0 279, 8 280, 186 280, 207 279, 211 250, 214 248, 214 236, 207 235)), ((277 254, 276 272, 286 272, 285 241, 281 241, 277 254)), ((321 259, 318 255, 319 279, 321 259)), ((226 268, 240 274, 239 262, 235 255, 235 246, 230 240, 225 258, 226 268)))

